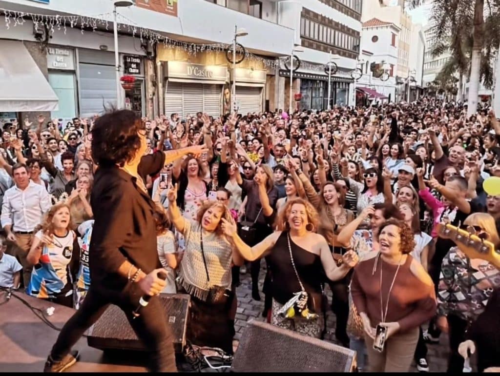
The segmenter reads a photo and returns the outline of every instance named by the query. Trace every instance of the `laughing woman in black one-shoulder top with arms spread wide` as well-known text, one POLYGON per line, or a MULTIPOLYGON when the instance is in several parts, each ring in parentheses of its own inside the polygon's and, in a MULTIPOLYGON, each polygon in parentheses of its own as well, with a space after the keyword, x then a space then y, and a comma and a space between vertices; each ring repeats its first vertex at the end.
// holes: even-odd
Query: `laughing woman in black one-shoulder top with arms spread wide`
POLYGON ((343 278, 357 263, 357 255, 347 252, 342 265, 336 265, 326 240, 315 233, 317 211, 303 199, 287 201, 276 223, 277 230, 253 247, 241 240, 235 224, 222 220, 222 228, 244 259, 266 257, 272 276, 278 277, 270 283, 271 324, 319 338, 323 330, 322 275, 330 280, 343 278), (300 302, 292 304, 294 298, 300 302))

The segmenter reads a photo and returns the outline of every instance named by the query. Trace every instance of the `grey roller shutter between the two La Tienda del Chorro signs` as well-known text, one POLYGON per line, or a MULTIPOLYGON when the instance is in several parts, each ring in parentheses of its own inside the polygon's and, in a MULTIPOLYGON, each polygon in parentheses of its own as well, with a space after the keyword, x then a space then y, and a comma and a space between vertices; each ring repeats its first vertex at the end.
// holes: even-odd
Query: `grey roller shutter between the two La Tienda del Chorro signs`
POLYGON ((116 76, 114 66, 79 64, 80 116, 102 113, 104 106, 116 106, 116 76))

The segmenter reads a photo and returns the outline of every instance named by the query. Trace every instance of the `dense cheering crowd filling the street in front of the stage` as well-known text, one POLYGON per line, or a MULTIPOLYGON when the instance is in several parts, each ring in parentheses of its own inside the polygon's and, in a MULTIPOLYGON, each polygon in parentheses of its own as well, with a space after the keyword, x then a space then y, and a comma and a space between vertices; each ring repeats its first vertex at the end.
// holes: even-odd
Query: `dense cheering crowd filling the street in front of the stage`
MULTIPOLYGON (((69 307, 84 301, 100 119, 3 124, 0 285, 69 307)), ((191 296, 189 341, 232 353, 235 290, 249 271, 252 299, 264 294, 262 316, 273 325, 322 338, 331 309, 335 337, 357 351, 361 370, 406 372, 414 360, 429 371, 427 345, 442 331, 448 372, 462 372, 476 347, 479 371, 500 366, 491 345, 500 273, 438 234, 449 223, 500 246, 500 191, 482 184, 500 177, 490 109, 467 117, 466 106, 423 98, 138 122, 144 161, 157 168, 134 184, 156 204, 163 292, 191 296)), ((130 267, 128 280, 140 272, 130 267)))

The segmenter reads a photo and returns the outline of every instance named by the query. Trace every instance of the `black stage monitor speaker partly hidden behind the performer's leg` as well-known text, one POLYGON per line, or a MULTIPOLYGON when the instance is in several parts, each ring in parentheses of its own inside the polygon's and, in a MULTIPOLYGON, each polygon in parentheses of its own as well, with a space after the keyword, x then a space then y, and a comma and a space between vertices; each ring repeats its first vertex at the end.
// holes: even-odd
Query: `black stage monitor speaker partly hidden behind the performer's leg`
MULTIPOLYGON (((186 341, 190 296, 187 294, 160 294, 159 300, 172 332, 175 352, 182 353, 186 341)), ((99 320, 90 327, 87 344, 100 350, 145 351, 123 311, 114 305, 110 305, 99 320)))

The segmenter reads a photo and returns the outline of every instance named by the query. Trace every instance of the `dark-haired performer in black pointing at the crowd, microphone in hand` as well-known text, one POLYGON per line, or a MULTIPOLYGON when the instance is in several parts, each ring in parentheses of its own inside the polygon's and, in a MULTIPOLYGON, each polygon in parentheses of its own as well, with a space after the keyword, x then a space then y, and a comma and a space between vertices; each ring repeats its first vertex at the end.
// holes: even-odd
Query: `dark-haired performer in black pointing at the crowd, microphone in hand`
POLYGON ((94 226, 89 250, 90 288, 79 310, 64 325, 52 347, 45 372, 61 372, 78 359, 71 347, 109 304, 126 314, 150 353, 150 371, 176 371, 172 336, 159 300, 155 204, 144 186, 147 175, 185 154, 200 154, 204 145, 144 156, 146 129, 129 110, 107 113, 92 130, 92 158, 99 167, 91 194, 94 226), (153 296, 132 320, 143 295, 153 296))

